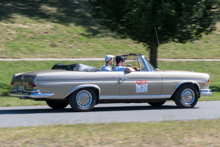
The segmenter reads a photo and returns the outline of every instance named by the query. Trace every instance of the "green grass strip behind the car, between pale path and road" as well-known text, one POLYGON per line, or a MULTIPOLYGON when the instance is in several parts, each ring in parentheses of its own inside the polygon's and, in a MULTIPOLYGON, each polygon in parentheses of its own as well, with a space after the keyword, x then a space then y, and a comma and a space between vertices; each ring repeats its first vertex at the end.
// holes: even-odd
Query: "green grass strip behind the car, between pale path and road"
MULTIPOLYGON (((104 61, 1 61, 0 62, 0 106, 21 106, 21 105, 44 105, 44 102, 36 102, 32 100, 19 100, 18 98, 7 97, 12 75, 20 72, 30 72, 37 70, 48 70, 56 63, 73 64, 84 63, 87 65, 101 68, 104 61)), ((166 70, 186 70, 194 72, 208 73, 211 77, 212 96, 202 96, 199 100, 220 100, 220 62, 213 61, 172 61, 164 62, 166 70)), ((159 62, 159 69, 162 69, 162 64, 159 62)))

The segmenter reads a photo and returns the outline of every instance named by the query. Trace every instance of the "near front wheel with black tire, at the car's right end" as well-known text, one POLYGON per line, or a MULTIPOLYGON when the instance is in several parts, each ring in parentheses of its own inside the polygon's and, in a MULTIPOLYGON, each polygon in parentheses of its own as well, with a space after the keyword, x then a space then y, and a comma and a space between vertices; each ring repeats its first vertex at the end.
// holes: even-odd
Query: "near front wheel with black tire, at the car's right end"
POLYGON ((174 102, 180 108, 193 108, 196 105, 198 98, 198 91, 191 84, 179 87, 174 93, 174 102))

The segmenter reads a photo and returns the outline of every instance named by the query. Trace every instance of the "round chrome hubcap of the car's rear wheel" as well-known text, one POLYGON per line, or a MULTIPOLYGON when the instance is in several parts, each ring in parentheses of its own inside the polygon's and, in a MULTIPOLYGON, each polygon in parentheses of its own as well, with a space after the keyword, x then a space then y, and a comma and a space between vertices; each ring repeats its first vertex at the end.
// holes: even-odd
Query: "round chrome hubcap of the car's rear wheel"
POLYGON ((88 107, 92 103, 92 95, 87 90, 82 90, 76 95, 76 103, 80 107, 88 107))

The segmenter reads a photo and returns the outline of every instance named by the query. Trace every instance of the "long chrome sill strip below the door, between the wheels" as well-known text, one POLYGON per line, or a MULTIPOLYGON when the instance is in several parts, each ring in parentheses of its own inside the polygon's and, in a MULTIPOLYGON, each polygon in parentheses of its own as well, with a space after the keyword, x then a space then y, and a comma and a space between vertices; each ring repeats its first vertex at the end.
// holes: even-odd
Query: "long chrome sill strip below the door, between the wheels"
POLYGON ((99 100, 169 99, 171 95, 102 95, 99 100))

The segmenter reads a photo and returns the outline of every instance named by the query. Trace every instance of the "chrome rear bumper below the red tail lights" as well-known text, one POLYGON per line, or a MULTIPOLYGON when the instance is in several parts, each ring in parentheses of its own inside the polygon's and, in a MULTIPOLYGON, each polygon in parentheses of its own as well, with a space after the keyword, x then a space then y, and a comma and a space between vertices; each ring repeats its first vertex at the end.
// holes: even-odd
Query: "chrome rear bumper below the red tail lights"
POLYGON ((17 91, 17 89, 13 89, 9 93, 10 96, 20 97, 22 99, 25 98, 47 98, 54 95, 54 93, 41 93, 39 90, 32 90, 32 91, 17 91))

